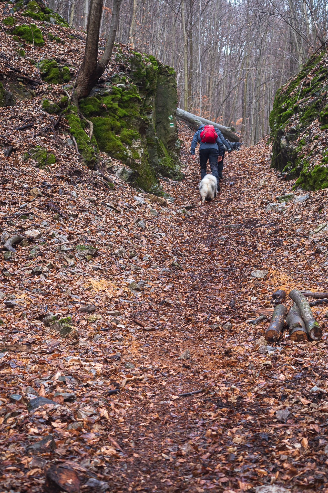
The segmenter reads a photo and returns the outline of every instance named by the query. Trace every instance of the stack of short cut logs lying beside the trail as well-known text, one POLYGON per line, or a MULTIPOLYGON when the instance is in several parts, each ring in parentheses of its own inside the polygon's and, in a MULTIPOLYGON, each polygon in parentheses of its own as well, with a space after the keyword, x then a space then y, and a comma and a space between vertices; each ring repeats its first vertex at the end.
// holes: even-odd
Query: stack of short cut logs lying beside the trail
MULTIPOLYGON (((266 332, 266 339, 269 342, 277 341, 284 329, 288 327, 292 341, 301 342, 307 340, 320 341, 322 330, 319 323, 314 319, 309 303, 305 296, 312 298, 327 298, 328 293, 312 293, 310 291, 300 292, 292 289, 289 297, 294 301, 294 305, 287 310, 282 302, 286 298, 286 292, 278 289, 272 295, 272 301, 276 305, 271 317, 270 325, 266 332)), ((315 303, 311 303, 312 306, 315 303)))

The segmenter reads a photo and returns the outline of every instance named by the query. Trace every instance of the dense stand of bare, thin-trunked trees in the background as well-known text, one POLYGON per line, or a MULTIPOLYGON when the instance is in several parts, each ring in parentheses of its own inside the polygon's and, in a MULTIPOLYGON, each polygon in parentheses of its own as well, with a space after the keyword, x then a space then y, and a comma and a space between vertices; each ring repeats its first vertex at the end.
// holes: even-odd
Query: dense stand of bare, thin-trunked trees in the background
MULTIPOLYGON (((113 0, 104 0, 107 37, 113 0)), ((89 0, 50 0, 86 30, 89 0)), ((234 126, 245 144, 268 134, 276 90, 326 43, 326 0, 124 0, 117 42, 177 72, 179 107, 234 126)))

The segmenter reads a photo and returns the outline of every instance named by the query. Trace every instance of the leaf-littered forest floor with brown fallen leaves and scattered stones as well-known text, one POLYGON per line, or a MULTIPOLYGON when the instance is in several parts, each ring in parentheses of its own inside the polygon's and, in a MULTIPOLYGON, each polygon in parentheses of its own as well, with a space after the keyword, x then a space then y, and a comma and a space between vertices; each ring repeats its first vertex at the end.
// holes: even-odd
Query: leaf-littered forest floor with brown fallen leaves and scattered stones
MULTIPOLYGON (((115 493, 328 492, 326 333, 267 350, 268 322, 249 323, 278 288, 327 291, 326 233, 315 233, 327 192, 266 211, 292 182, 269 169, 262 141, 227 155, 221 192, 202 206, 191 137, 180 128, 186 178, 163 181, 166 207, 69 163, 1 165, 2 230, 41 233, 1 260, 1 492, 43 491, 49 467, 66 471, 67 492, 80 481, 115 493), (23 203, 27 218, 8 219, 23 203), (44 325, 49 313, 71 317, 73 332, 44 325)), ((313 308, 323 327, 326 312, 313 308)))

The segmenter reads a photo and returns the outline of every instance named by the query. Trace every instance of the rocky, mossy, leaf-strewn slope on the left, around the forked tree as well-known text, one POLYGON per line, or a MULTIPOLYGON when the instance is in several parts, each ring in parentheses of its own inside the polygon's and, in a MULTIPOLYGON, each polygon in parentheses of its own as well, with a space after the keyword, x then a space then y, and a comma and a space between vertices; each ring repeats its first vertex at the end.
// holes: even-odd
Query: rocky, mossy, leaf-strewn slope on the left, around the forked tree
POLYGON ((88 122, 70 104, 85 34, 42 2, 25 3, 5 3, 0 15, 0 106, 4 118, 11 115, 1 132, 3 148, 13 143, 25 160, 32 156, 48 170, 60 155, 75 153, 90 169, 115 171, 143 190, 163 193, 159 176, 182 177, 174 70, 116 45, 112 65, 81 101, 93 124, 90 140, 88 122), (17 134, 23 124, 30 130, 17 134))

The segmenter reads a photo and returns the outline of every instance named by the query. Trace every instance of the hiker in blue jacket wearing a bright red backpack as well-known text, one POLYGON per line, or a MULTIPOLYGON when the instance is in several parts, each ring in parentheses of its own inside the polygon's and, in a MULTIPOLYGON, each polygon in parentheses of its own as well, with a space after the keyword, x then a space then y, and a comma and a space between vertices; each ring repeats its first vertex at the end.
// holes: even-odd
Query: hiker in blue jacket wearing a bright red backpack
POLYGON ((201 179, 203 179, 206 175, 206 167, 209 160, 211 174, 219 180, 219 175, 217 173, 217 162, 222 161, 222 156, 224 156, 224 147, 216 131, 217 129, 214 129, 213 125, 200 125, 198 130, 194 133, 194 137, 191 141, 190 154, 193 160, 196 159, 195 148, 199 142, 201 179))

